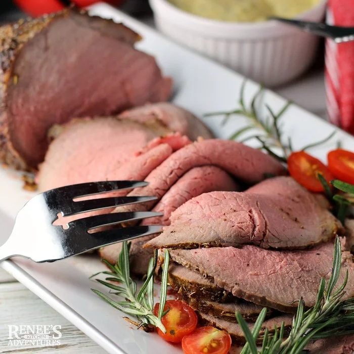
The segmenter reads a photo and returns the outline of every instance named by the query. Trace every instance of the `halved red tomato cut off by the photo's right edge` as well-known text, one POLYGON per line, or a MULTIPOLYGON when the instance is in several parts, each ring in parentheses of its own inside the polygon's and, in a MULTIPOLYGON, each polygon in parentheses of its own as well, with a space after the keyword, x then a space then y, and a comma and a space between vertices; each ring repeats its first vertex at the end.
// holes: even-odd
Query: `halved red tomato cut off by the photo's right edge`
POLYGON ((328 153, 328 167, 338 180, 354 184, 354 153, 343 149, 328 153))

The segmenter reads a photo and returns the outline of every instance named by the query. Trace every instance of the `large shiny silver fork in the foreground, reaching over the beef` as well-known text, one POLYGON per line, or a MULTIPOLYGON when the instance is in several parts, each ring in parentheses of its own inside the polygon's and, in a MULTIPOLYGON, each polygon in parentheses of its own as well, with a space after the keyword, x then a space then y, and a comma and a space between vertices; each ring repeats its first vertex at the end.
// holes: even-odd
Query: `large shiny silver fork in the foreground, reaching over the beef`
POLYGON ((140 181, 107 181, 61 187, 36 195, 16 216, 15 226, 6 243, 0 247, 0 260, 12 256, 30 258, 35 262, 51 262, 93 250, 119 241, 151 235, 161 226, 130 226, 94 233, 90 231, 108 225, 159 216, 152 211, 117 212, 74 220, 63 226, 53 223, 62 216, 142 203, 155 197, 107 197, 75 201, 80 197, 147 186, 140 181))

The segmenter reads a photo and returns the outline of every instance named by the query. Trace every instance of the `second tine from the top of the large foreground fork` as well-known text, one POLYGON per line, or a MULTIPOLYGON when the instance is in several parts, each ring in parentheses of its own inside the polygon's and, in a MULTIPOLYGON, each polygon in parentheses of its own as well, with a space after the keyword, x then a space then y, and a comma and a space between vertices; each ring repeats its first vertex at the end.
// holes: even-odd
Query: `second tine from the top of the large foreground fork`
MULTIPOLYGON (((73 202, 71 204, 65 204, 60 208, 60 212, 63 216, 80 214, 87 211, 106 209, 121 205, 136 204, 149 202, 156 200, 157 197, 111 197, 111 198, 100 198, 100 199, 89 199, 81 200, 79 202, 73 202)), ((59 212, 58 211, 58 212, 59 212)))

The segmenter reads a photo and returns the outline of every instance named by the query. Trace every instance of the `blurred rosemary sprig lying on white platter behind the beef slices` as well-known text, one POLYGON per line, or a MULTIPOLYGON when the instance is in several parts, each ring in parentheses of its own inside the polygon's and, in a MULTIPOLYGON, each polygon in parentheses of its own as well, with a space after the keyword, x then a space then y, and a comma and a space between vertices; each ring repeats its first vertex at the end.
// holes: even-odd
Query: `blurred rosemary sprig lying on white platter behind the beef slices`
MULTIPOLYGON (((261 99, 262 94, 264 92, 263 87, 259 88, 257 93, 254 95, 250 106, 247 107, 244 100, 245 86, 246 80, 241 85, 239 96, 240 98, 238 101, 239 108, 226 112, 208 113, 205 115, 205 117, 223 115, 224 119, 222 120, 222 125, 225 125, 229 121, 229 119, 235 115, 241 115, 248 118, 249 124, 233 132, 229 139, 239 141, 240 143, 245 143, 249 140, 256 139, 260 142, 259 148, 267 151, 279 161, 286 162, 287 157, 293 151, 293 147, 291 138, 288 137, 287 139, 285 139, 283 137, 280 118, 287 111, 287 109, 291 105, 291 102, 288 101, 278 113, 275 113, 273 109, 266 104, 265 108, 267 108, 268 115, 263 119, 258 113, 257 109, 259 100, 261 99), (247 137, 244 137, 244 133, 250 131, 252 131, 252 134, 247 137), (274 148, 280 150, 281 153, 276 153, 274 151, 274 148)), ((335 134, 336 131, 333 131, 328 137, 321 139, 318 142, 306 145, 300 150, 307 150, 324 144, 330 139, 332 139, 335 134)))

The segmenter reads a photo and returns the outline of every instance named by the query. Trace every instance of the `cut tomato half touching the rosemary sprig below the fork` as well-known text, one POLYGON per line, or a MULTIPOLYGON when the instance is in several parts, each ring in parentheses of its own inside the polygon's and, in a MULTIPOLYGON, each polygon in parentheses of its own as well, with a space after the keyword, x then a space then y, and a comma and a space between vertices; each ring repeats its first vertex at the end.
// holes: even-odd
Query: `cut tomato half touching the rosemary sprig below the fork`
MULTIPOLYGON (((160 304, 154 306, 154 314, 157 316, 160 304)), ((182 338, 192 333, 197 327, 198 318, 194 309, 181 300, 167 300, 164 311, 168 313, 162 317, 161 322, 166 328, 163 333, 159 328, 157 333, 168 342, 181 343, 182 338)))

